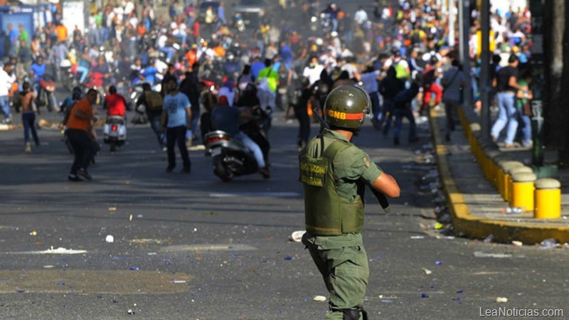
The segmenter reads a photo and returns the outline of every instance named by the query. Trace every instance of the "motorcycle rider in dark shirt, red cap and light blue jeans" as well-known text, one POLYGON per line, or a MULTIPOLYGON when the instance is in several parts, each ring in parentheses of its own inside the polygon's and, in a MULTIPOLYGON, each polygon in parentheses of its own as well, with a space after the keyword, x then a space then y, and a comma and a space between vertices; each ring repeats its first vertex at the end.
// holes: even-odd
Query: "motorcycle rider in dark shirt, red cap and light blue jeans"
POLYGON ((261 148, 255 144, 247 134, 239 130, 240 119, 251 119, 253 117, 251 112, 247 108, 240 110, 236 107, 230 107, 227 103, 227 97, 224 95, 220 96, 218 100, 220 103, 213 108, 213 112, 211 113, 211 120, 215 129, 227 132, 243 142, 243 144, 255 154, 255 160, 257 160, 257 165, 259 166, 259 173, 263 178, 270 178, 270 172, 267 166, 265 166, 265 159, 263 159, 261 148), (222 105, 221 102, 225 103, 222 105))

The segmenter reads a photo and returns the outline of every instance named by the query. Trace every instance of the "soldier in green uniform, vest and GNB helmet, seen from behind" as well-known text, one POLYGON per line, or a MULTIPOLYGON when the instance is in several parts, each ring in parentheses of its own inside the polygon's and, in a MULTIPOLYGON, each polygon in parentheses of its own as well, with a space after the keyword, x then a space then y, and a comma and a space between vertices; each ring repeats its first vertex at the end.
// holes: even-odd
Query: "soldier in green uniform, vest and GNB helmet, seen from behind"
POLYGON ((299 154, 307 233, 302 243, 324 278, 331 312, 325 319, 367 319, 363 311, 369 268, 363 248, 363 191, 399 196, 395 179, 350 142, 358 134, 370 100, 354 85, 332 90, 324 102, 323 128, 299 154))

